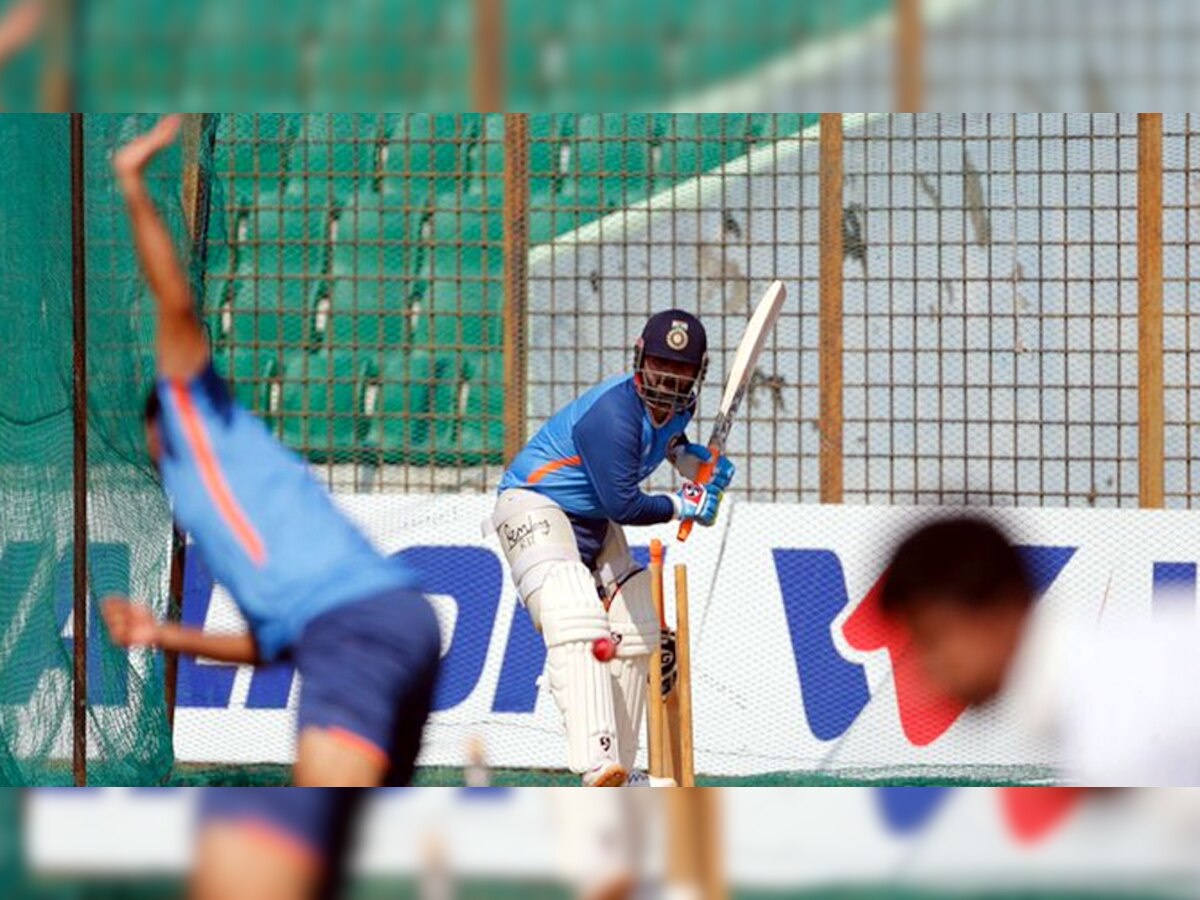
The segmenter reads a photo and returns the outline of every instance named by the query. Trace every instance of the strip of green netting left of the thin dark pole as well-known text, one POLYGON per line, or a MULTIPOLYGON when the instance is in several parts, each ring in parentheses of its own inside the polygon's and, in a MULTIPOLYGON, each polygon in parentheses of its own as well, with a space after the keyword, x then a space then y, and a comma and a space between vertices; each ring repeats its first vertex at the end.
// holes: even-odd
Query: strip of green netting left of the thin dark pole
MULTIPOLYGON (((0 782, 70 736, 58 588, 71 547, 71 203, 65 116, 0 118, 0 782)), ((67 582, 70 584, 70 581, 67 582)))

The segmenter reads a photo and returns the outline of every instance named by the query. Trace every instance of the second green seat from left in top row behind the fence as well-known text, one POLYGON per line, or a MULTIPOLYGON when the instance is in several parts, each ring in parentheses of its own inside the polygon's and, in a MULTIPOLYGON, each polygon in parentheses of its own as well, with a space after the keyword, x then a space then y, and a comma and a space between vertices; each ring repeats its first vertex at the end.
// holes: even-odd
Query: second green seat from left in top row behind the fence
POLYGON ((376 170, 376 116, 311 113, 288 154, 289 194, 340 206, 376 170))

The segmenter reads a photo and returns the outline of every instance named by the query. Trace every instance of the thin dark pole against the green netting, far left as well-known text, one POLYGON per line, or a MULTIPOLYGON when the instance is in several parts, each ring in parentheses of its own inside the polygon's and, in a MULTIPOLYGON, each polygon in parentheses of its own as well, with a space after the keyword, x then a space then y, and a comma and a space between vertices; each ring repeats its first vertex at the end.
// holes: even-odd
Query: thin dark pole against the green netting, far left
POLYGON ((71 114, 71 317, 72 317, 72 769, 88 784, 88 280, 84 244, 83 115, 71 114))

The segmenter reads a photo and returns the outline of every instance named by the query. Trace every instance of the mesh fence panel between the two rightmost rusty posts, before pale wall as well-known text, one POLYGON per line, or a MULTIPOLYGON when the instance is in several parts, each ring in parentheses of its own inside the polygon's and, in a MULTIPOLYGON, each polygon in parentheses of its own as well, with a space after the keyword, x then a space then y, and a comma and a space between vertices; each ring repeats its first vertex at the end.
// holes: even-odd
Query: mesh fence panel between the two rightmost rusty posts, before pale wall
POLYGON ((1136 503, 1136 119, 878 116, 846 140, 846 480, 1136 503))

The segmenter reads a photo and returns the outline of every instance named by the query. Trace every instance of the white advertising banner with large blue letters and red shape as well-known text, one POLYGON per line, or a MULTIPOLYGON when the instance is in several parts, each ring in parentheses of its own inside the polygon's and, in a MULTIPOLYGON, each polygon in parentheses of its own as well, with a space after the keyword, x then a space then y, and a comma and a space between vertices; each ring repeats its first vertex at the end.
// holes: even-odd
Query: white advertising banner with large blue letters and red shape
MULTIPOLYGON (((347 498, 386 552, 421 570, 442 614, 444 677, 421 764, 461 766, 470 738, 502 767, 560 768, 557 710, 538 686, 542 644, 518 608, 498 547, 480 538, 491 497, 347 498)), ((719 524, 674 545, 686 562, 697 769, 714 775, 820 770, 977 778, 1045 776, 1049 749, 1019 710, 924 710, 919 679, 896 671, 869 599, 898 536, 936 508, 730 504, 719 524)), ((1148 614, 1194 604, 1200 520, 1187 512, 991 510, 1014 534, 1054 614, 1148 614)), ((217 630, 236 613, 188 564, 185 617, 217 630), (210 602, 211 596, 211 602, 210 602)), ((1114 660, 1120 666, 1121 660, 1114 660)), ((175 750, 185 762, 288 762, 298 684, 289 670, 187 662, 175 750)))

